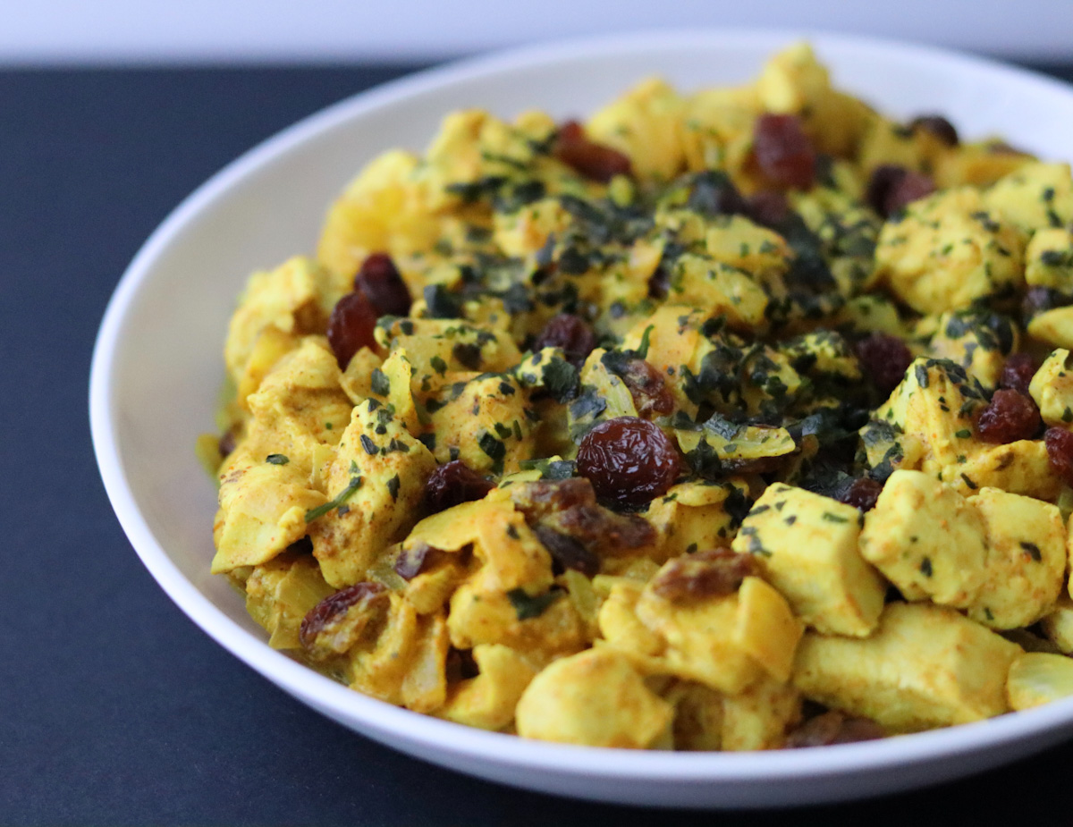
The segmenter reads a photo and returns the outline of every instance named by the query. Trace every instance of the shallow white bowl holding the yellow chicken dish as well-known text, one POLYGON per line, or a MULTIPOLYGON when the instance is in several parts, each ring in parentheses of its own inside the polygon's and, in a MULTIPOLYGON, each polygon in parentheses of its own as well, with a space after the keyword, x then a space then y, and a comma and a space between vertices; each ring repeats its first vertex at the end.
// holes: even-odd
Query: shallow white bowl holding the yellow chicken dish
MULTIPOLYGON (((641 77, 686 90, 755 76, 796 32, 645 33, 527 48, 364 92, 283 131, 201 187, 123 275, 93 354, 90 418, 104 484, 160 586, 236 656, 299 700, 395 749, 485 779, 665 807, 765 807, 937 783, 1067 738, 1073 699, 983 723, 846 747, 771 753, 594 750, 526 741, 364 697, 271 650, 242 601, 209 575, 216 491, 194 458, 212 428, 227 317, 247 275, 313 249, 328 203, 374 154, 421 149, 440 118, 584 115, 641 77)), ((931 48, 806 33, 836 85, 882 110, 942 113, 962 135, 1000 133, 1073 156, 1073 89, 931 48)))

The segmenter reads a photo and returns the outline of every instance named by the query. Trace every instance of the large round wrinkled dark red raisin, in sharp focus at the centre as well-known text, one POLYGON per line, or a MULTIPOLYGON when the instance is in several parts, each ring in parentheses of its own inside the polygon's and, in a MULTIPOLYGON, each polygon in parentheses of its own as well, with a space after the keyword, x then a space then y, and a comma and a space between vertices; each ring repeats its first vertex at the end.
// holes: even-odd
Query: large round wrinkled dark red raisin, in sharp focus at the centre
POLYGON ((622 506, 643 505, 666 493, 678 478, 681 458, 658 425, 618 416, 597 425, 577 448, 577 473, 597 498, 622 506))

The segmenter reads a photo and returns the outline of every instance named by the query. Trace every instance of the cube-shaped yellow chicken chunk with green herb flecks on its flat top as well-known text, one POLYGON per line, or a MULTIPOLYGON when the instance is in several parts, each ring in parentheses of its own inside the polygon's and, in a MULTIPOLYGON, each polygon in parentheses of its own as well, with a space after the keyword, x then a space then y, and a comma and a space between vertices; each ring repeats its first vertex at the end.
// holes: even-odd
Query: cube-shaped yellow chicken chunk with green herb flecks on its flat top
POLYGON ((776 483, 756 501, 733 549, 751 553, 794 615, 825 634, 867 637, 886 584, 857 550, 861 512, 776 483))

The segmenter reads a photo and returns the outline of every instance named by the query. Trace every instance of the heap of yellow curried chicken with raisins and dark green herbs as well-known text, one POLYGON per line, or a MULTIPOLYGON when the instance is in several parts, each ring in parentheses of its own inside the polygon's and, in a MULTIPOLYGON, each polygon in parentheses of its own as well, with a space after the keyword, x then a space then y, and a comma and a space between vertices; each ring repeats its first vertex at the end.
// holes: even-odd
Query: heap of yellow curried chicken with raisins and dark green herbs
POLYGON ((445 118, 254 274, 212 572, 356 691, 761 750, 1073 692, 1073 180, 807 45, 445 118))

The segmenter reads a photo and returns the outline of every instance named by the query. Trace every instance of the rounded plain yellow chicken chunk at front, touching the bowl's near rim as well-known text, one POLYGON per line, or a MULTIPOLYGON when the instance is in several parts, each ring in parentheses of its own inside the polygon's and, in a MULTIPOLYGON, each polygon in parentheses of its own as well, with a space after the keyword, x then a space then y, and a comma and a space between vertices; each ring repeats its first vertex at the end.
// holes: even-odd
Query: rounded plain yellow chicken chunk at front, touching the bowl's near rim
POLYGON ((613 649, 545 667, 518 700, 518 735, 586 747, 649 749, 670 742, 673 708, 613 649))

